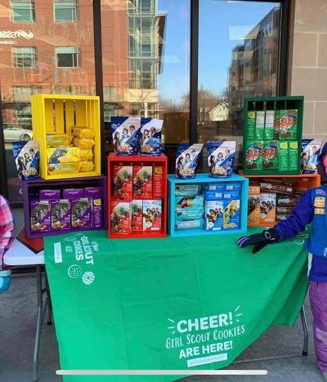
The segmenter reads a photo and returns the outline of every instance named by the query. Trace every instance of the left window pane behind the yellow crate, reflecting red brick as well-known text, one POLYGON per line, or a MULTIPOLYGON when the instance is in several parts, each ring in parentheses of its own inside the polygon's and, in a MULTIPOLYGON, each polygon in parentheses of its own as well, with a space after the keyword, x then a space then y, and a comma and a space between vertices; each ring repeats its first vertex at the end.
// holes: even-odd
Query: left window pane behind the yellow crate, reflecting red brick
POLYGON ((19 202, 21 182, 11 142, 32 137, 30 96, 95 94, 93 4, 82 0, 38 0, 35 4, 0 0, 0 7, 4 10, 1 30, 10 32, 8 38, 1 36, 0 112, 5 145, 0 150, 6 155, 10 202, 19 202), (66 8, 62 9, 62 22, 57 23, 61 6, 66 8), (20 30, 24 33, 16 33, 20 30))

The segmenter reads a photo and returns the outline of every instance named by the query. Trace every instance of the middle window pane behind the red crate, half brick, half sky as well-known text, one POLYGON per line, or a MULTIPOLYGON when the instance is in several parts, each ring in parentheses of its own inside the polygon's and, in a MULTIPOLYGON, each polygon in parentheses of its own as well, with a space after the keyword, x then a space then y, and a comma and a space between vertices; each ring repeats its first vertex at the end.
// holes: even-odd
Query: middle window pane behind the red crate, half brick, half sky
POLYGON ((111 116, 161 118, 166 145, 188 142, 190 1, 117 0, 101 6, 107 131, 111 116))

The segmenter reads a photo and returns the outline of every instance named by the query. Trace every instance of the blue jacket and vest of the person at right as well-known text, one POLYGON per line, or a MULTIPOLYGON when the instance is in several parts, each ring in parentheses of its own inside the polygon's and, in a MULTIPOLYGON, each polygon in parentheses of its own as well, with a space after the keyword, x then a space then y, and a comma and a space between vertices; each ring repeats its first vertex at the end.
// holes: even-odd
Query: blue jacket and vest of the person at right
POLYGON ((317 282, 327 282, 327 258, 321 253, 321 242, 326 242, 327 248, 327 215, 324 206, 315 204, 317 199, 320 203, 321 199, 326 202, 326 196, 326 186, 308 190, 299 199, 292 215, 274 226, 279 232, 280 240, 286 240, 305 230, 306 226, 312 223, 312 235, 306 242, 306 248, 310 253, 308 275, 311 281, 317 282))

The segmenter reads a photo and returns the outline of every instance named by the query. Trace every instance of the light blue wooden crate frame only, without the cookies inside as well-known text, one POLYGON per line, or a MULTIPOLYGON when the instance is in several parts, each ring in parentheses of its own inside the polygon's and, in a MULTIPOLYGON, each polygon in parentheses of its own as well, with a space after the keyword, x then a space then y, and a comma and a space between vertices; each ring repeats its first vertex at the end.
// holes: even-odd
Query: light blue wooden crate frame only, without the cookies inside
POLYGON ((247 231, 247 199, 248 199, 249 179, 236 174, 225 179, 210 178, 207 174, 196 174, 195 179, 176 179, 175 175, 168 175, 168 233, 170 236, 196 236, 196 235, 228 235, 231 233, 245 233, 247 231), (175 185, 185 185, 191 183, 241 183, 241 203, 240 203, 240 224, 237 230, 216 230, 207 231, 203 229, 175 230, 175 185))

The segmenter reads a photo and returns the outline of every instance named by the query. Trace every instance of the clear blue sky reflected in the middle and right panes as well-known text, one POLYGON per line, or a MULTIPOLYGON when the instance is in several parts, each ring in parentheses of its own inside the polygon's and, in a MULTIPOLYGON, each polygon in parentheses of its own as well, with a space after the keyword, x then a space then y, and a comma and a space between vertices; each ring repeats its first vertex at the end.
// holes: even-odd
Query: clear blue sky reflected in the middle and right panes
MULTIPOLYGON (((227 86, 232 49, 279 3, 199 0, 198 86, 221 93, 227 86)), ((160 98, 180 101, 189 91, 189 1, 158 0, 166 11, 160 98)))

